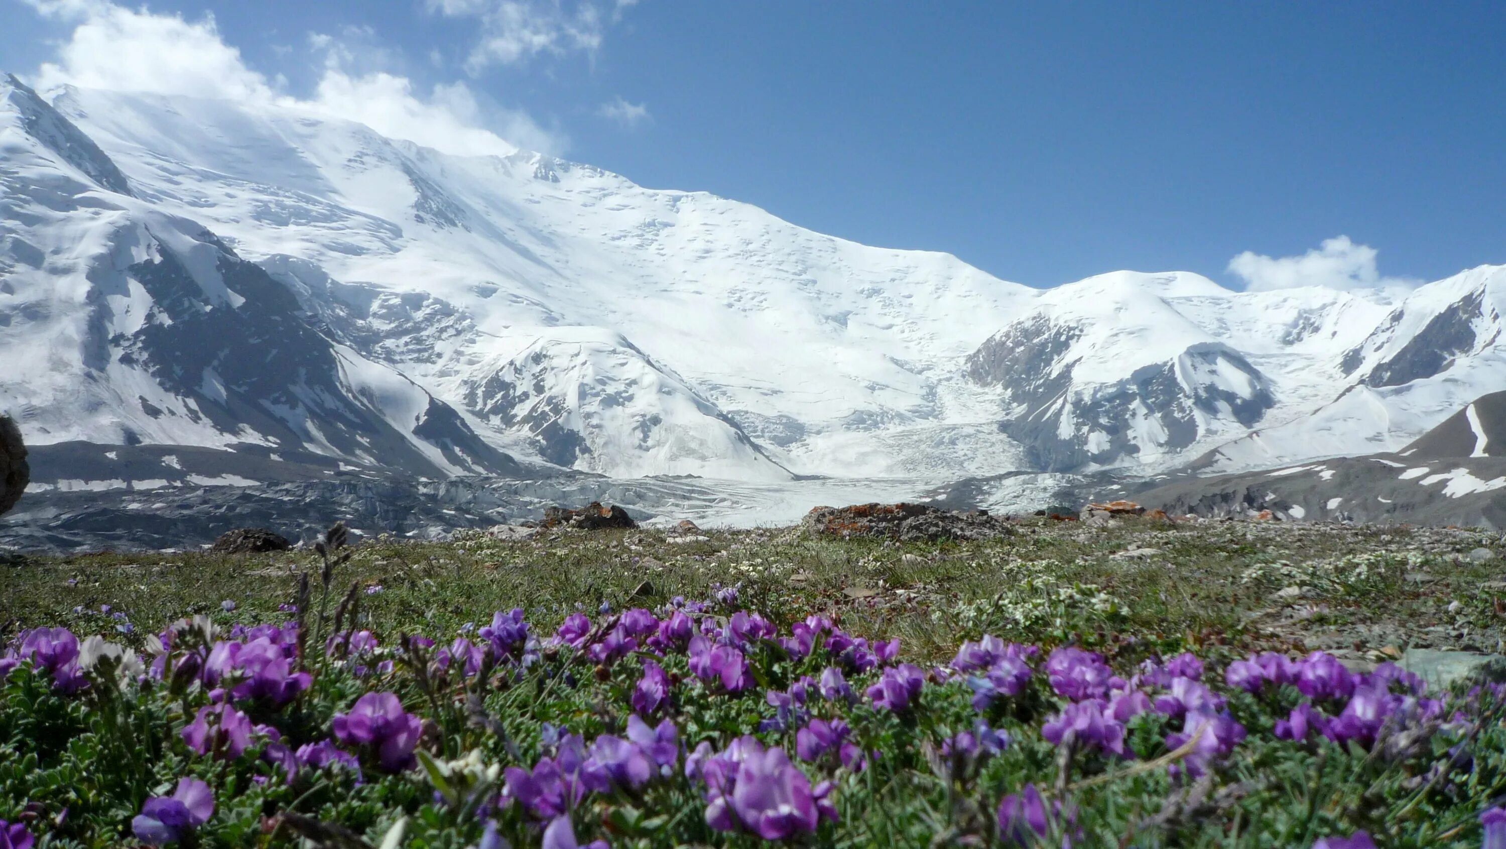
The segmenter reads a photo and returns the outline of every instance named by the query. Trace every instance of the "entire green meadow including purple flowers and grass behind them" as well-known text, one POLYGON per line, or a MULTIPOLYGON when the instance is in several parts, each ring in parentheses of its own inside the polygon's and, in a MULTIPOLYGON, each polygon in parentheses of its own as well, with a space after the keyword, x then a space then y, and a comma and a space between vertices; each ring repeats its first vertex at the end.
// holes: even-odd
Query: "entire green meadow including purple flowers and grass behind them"
POLYGON ((3 637, 32 650, 0 701, 0 840, 1479 846, 1506 795, 1501 694, 1419 700, 1386 665, 1500 650, 1494 534, 1026 519, 970 543, 631 530, 343 554, 327 601, 313 551, 3 568, 3 637), (29 631, 54 626, 119 649, 68 667, 29 631))

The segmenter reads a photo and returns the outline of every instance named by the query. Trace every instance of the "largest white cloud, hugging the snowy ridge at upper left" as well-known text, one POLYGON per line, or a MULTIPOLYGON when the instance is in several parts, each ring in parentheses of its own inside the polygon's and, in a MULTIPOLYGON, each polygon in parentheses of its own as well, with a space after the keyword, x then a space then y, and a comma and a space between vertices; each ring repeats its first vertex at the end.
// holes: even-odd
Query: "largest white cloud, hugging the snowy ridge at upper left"
POLYGON ((298 98, 285 90, 280 75, 268 80, 247 66, 220 36, 212 15, 187 21, 105 0, 29 3, 44 15, 77 21, 56 62, 35 74, 39 89, 72 84, 276 104, 357 120, 383 135, 456 155, 506 155, 518 148, 560 154, 566 145, 563 134, 524 111, 483 102, 465 83, 423 92, 408 77, 380 69, 393 57, 372 45, 366 30, 349 30, 349 38, 312 33, 309 45, 322 53, 322 71, 313 95, 298 98))

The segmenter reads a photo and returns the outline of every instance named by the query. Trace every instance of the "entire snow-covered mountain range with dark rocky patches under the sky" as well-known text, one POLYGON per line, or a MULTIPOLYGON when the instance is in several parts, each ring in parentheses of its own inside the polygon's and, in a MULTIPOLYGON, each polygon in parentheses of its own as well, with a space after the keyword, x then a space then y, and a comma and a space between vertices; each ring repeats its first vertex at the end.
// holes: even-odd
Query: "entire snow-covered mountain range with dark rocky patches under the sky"
POLYGON ((33 444, 774 483, 1233 470, 1399 447, 1506 385, 1503 268, 1407 298, 1036 291, 524 151, 44 95, 0 84, 0 405, 33 444))

